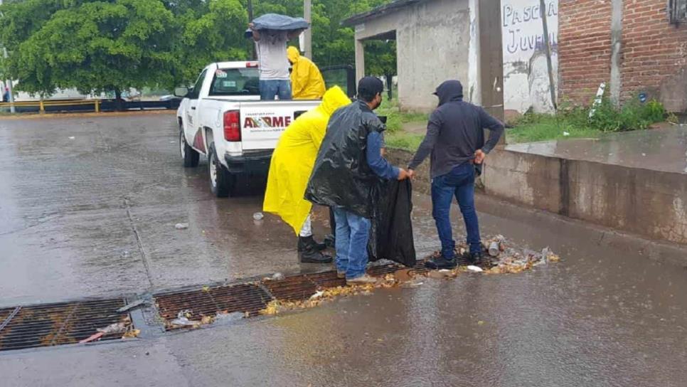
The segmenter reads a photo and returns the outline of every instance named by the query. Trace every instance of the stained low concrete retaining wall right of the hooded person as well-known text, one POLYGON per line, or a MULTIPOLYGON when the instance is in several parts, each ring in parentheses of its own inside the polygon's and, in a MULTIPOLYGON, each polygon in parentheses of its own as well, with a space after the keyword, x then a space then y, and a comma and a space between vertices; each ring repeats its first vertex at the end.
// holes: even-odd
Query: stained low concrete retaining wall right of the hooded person
POLYGON ((494 150, 486 194, 646 238, 687 244, 687 175, 494 150))

